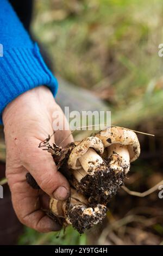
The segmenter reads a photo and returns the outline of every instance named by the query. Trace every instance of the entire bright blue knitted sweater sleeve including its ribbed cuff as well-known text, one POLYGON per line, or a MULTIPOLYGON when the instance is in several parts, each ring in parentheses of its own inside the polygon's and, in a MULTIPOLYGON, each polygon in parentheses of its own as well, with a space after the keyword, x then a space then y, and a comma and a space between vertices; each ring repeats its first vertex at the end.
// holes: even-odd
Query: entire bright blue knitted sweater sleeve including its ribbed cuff
MULTIPOLYGON (((58 83, 8 0, 0 0, 0 115, 9 102, 34 87, 58 83)), ((2 118, 0 119, 2 123, 2 118)))

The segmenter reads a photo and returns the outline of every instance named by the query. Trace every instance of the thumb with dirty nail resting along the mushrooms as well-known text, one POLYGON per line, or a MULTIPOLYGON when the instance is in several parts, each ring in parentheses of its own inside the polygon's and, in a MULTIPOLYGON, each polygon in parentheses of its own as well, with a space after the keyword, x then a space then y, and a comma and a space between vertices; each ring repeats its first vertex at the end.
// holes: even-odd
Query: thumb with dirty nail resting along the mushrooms
POLYGON ((43 191, 57 200, 65 200, 70 196, 68 181, 58 172, 51 154, 38 148, 39 143, 39 139, 28 137, 28 143, 21 144, 22 164, 43 191))

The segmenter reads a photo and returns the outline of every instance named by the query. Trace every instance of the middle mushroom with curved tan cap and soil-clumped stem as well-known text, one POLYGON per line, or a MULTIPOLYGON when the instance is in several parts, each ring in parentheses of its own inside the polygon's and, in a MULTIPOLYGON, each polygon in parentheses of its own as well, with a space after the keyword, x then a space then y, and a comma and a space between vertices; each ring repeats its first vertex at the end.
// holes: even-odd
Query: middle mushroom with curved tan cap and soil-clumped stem
POLYGON ((101 157, 103 152, 101 139, 88 137, 72 149, 67 162, 74 178, 72 185, 89 198, 91 203, 103 204, 108 193, 103 187, 109 173, 109 168, 101 157))

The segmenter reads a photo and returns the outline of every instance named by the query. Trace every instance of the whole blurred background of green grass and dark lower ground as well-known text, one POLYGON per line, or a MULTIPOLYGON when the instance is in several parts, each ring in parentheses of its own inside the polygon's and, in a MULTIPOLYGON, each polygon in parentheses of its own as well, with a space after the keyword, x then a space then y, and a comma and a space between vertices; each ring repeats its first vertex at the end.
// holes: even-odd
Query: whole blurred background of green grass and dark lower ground
MULTIPOLYGON (((142 154, 126 181, 140 192, 163 179, 162 25, 161 0, 41 0, 33 14, 32 32, 49 52, 57 76, 101 99, 112 124, 155 134, 139 135, 142 154)), ((18 243, 163 244, 162 200, 158 191, 137 198, 121 190, 105 222, 87 234, 68 227, 57 237, 24 228, 18 243)))

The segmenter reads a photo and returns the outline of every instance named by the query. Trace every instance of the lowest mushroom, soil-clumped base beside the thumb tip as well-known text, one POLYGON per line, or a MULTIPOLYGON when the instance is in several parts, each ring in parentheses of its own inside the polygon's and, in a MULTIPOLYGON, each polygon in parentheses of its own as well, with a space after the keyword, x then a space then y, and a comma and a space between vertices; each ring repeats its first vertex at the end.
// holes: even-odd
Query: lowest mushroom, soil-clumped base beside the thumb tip
POLYGON ((64 219, 64 225, 72 224, 80 234, 101 222, 106 214, 104 205, 89 206, 87 199, 73 188, 69 200, 58 201, 51 198, 49 208, 53 215, 64 219))

